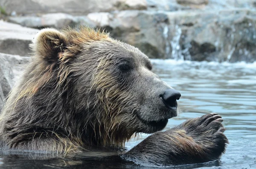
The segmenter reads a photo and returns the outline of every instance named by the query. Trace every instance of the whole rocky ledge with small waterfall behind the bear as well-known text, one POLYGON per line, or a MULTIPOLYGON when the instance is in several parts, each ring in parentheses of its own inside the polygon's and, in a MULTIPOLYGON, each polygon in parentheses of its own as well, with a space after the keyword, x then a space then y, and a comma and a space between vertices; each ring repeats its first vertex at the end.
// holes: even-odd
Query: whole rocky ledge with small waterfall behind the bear
MULTIPOLYGON (((13 15, 5 17, 8 22, 36 29, 79 25, 102 28, 150 58, 256 60, 253 0, 63 0, 61 5, 57 1, 26 0, 24 8, 14 5, 18 0, 10 2, 0 0, 13 15)), ((0 52, 27 55, 36 30, 3 26, 6 24, 0 23, 0 52), (17 35, 12 37, 10 31, 17 35)))

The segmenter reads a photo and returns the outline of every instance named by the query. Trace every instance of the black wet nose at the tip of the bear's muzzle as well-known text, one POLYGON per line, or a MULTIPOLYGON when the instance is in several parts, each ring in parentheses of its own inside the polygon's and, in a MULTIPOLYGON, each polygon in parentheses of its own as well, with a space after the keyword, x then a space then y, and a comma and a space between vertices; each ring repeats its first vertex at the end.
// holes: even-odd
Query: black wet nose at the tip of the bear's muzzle
POLYGON ((160 95, 160 98, 162 99, 163 103, 167 107, 174 107, 177 108, 177 101, 180 99, 180 92, 178 92, 175 89, 168 89, 165 90, 162 95, 160 95))

